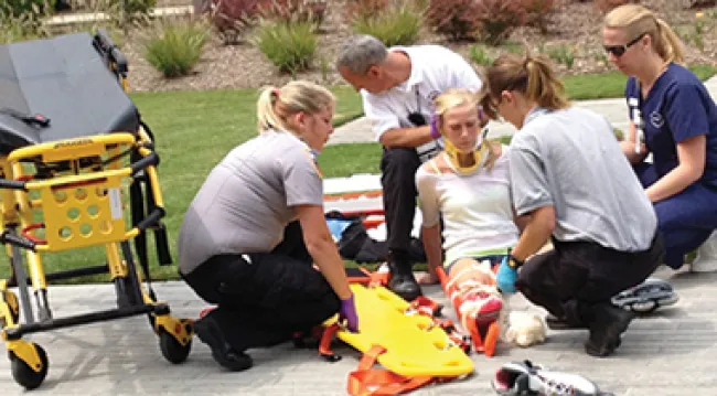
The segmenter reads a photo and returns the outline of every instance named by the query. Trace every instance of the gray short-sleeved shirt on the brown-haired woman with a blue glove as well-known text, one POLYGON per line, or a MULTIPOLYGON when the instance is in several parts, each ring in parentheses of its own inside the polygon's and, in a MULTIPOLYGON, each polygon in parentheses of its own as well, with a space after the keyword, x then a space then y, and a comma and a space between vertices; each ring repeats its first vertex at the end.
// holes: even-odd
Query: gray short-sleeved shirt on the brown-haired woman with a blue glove
POLYGON ((511 142, 515 210, 553 205, 553 236, 620 251, 650 247, 657 218, 612 127, 593 111, 534 110, 511 142))

